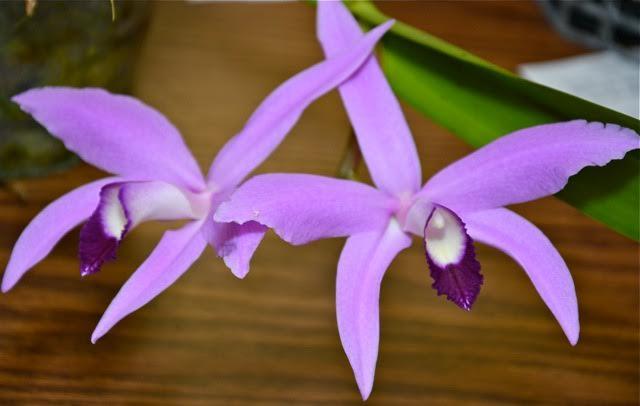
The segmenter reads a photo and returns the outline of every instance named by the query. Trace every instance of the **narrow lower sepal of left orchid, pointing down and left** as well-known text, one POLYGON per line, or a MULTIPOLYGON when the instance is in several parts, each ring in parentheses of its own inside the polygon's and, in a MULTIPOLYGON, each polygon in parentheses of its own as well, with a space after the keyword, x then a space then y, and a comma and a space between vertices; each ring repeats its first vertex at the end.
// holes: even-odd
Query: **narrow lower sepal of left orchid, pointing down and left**
POLYGON ((201 227, 202 221, 194 221, 164 233, 158 246, 113 299, 91 335, 91 342, 95 343, 117 322, 150 302, 189 269, 207 245, 201 227))

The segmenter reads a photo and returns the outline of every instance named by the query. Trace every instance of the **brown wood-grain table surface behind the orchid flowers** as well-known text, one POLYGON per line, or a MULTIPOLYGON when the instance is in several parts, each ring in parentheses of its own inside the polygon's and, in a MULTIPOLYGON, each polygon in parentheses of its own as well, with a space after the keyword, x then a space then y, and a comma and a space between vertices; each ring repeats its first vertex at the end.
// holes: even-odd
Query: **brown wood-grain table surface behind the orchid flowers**
MULTIPOLYGON (((584 52, 537 6, 393 2, 388 14, 509 69, 584 52)), ((135 94, 181 129, 206 168, 257 103, 315 63, 305 4, 156 4, 135 94)), ((470 148, 405 106, 424 178, 470 148)), ((314 104, 259 172, 333 175, 348 123, 334 92, 314 104)), ((0 192, 0 262, 29 220, 101 176, 88 166, 0 192)), ((420 244, 382 288, 381 347, 371 405, 638 401, 638 247, 554 198, 516 211, 555 243, 576 283, 582 332, 571 347, 524 272, 480 246, 485 285, 470 313, 431 289, 420 244)), ((173 287, 92 345, 120 285, 167 224, 126 238, 117 262, 81 280, 77 232, 0 297, 1 403, 361 404, 338 338, 335 267, 343 240, 291 247, 269 234, 237 280, 212 250, 173 287)))

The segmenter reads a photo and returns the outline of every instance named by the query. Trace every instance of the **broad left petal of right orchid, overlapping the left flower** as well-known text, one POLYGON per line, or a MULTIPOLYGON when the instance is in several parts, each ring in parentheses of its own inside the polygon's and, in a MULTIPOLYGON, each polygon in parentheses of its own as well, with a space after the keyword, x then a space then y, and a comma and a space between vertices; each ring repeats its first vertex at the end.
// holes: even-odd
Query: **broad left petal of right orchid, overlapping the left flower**
POLYGON ((316 175, 268 174, 240 186, 220 205, 215 220, 256 221, 291 244, 377 230, 396 202, 364 183, 316 175))

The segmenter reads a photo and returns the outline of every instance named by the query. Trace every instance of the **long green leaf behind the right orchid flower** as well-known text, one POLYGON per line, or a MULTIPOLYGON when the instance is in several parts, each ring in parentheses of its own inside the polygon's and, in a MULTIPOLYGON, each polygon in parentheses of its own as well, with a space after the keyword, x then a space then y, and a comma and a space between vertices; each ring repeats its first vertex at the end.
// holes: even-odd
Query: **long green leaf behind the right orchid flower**
MULTIPOLYGON (((365 25, 389 19, 369 1, 347 5, 365 25)), ((382 46, 382 66, 409 104, 480 147, 511 131, 582 118, 640 132, 640 121, 520 78, 439 38, 397 22, 382 46)), ((640 239, 640 154, 571 177, 557 196, 614 230, 640 239)))

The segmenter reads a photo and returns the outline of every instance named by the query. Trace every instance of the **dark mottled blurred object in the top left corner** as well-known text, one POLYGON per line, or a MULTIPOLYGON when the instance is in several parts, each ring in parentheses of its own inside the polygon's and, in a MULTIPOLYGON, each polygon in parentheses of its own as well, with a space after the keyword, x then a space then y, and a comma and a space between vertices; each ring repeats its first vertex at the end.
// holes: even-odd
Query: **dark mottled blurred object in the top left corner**
POLYGON ((130 89, 149 17, 146 1, 22 1, 0 7, 0 181, 39 176, 77 162, 61 142, 11 102, 38 86, 130 89))

